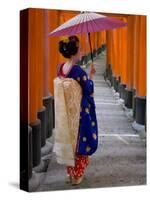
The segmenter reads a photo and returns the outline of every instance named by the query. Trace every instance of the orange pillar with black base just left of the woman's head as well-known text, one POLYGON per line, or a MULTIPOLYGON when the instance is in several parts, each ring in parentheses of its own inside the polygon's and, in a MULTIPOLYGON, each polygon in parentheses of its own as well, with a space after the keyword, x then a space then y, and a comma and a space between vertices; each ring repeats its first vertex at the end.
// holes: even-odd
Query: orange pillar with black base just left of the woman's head
POLYGON ((59 23, 59 11, 45 10, 45 48, 44 48, 44 94, 43 104, 46 107, 46 138, 52 135, 54 128, 54 96, 53 79, 56 77, 58 65, 58 37, 50 37, 48 34, 54 30, 59 23))

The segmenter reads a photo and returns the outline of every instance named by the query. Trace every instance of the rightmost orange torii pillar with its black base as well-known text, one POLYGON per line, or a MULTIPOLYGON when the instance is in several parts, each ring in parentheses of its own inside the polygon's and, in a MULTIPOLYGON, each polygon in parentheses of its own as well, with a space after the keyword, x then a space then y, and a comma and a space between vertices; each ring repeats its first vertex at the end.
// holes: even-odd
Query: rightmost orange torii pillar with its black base
MULTIPOLYGON (((136 16, 135 124, 146 128, 146 16, 136 16), (144 127, 145 126, 145 127, 144 127)), ((138 127, 138 126, 134 126, 138 127)), ((138 129, 138 128, 137 128, 138 129)))

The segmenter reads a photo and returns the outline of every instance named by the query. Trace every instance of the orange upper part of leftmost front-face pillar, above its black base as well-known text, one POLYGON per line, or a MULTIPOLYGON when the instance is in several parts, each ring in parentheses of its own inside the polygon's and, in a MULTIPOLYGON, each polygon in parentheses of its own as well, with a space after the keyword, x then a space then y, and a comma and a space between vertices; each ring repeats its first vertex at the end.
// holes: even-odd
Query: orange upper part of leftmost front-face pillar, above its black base
POLYGON ((29 9, 29 122, 43 106, 44 12, 29 9))

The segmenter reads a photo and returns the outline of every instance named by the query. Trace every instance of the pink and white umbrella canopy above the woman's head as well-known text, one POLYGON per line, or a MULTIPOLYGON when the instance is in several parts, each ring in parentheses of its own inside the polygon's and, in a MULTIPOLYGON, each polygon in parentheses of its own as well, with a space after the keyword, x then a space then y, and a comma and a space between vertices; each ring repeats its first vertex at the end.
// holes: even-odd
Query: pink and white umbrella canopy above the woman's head
POLYGON ((64 24, 60 25, 49 35, 69 36, 79 33, 91 33, 103 30, 110 30, 114 28, 120 28, 126 25, 127 23, 115 18, 107 17, 105 15, 100 15, 93 12, 84 12, 71 18, 64 24))

